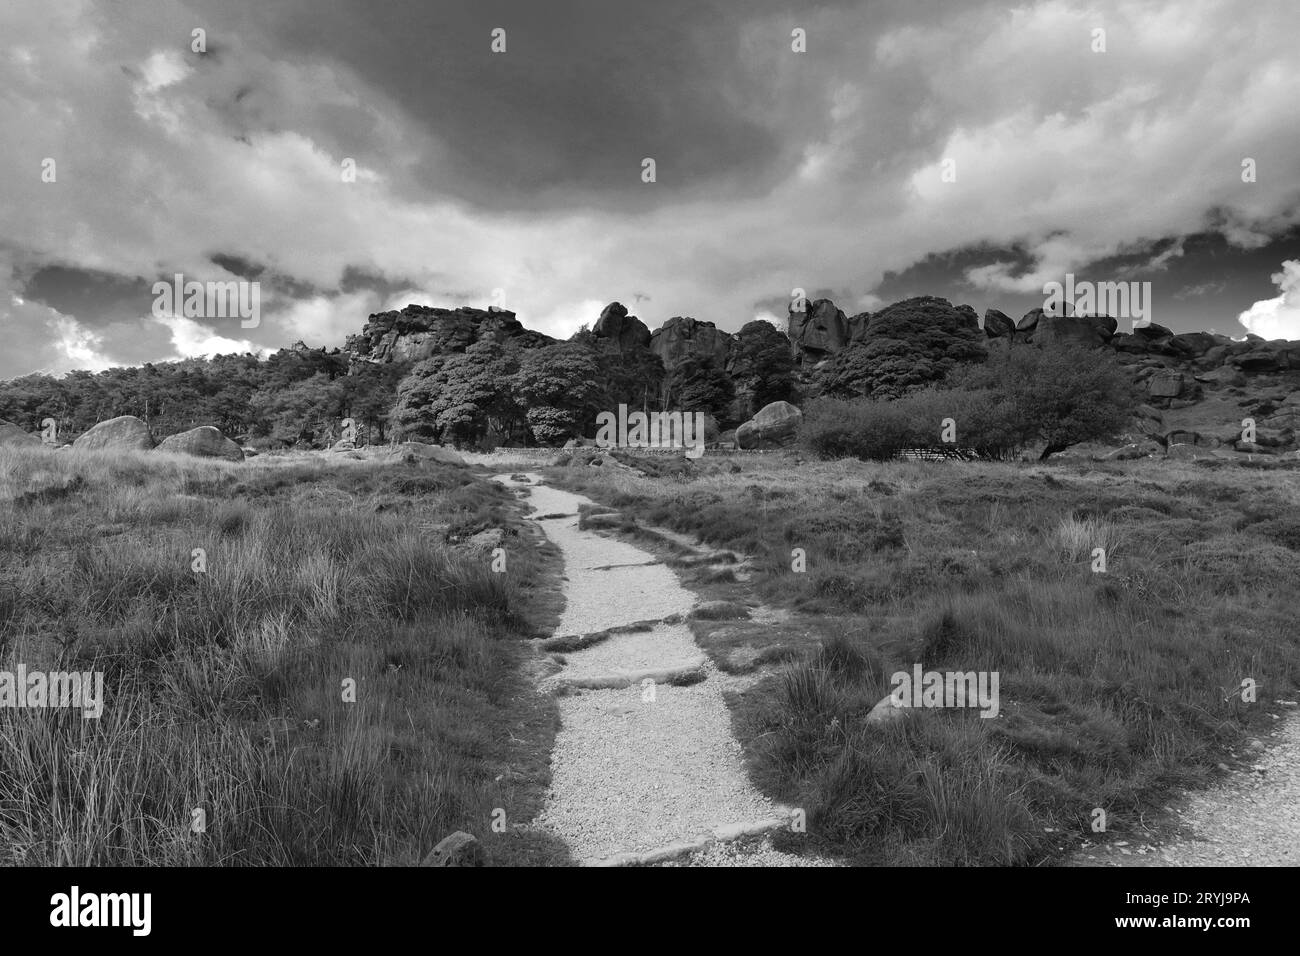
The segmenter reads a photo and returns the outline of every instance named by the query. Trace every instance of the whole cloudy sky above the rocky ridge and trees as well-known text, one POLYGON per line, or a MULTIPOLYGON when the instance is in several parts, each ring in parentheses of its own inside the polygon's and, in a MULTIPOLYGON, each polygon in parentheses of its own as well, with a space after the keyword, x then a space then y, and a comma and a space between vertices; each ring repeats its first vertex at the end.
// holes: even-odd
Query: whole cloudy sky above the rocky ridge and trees
POLYGON ((1066 273, 1300 338, 1295 0, 4 0, 0 36, 0 377, 408 302, 1020 315, 1066 273), (256 278, 261 324, 156 315, 176 273, 256 278))

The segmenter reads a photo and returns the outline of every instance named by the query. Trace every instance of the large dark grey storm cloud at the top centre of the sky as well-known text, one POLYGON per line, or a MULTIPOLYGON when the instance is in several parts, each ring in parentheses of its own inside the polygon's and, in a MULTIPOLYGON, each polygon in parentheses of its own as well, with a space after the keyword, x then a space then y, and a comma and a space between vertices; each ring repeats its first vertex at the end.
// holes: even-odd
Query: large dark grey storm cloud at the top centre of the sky
MULTIPOLYGON (((390 96, 445 146, 410 170, 420 189, 512 209, 760 193, 798 160, 807 131, 798 116, 771 109, 790 30, 845 7, 853 4, 199 4, 238 12, 285 56, 343 62, 390 96), (770 34, 763 46, 745 42, 754 21, 770 34), (497 27, 506 30, 504 53, 491 52, 497 27), (658 166, 654 194, 641 187, 645 157, 658 166)), ((872 7, 885 22, 897 4, 872 7)), ((828 38, 816 44, 826 49, 828 38)), ((824 70, 809 62, 807 74, 824 70)), ((816 96, 809 107, 805 120, 819 121, 816 96)))

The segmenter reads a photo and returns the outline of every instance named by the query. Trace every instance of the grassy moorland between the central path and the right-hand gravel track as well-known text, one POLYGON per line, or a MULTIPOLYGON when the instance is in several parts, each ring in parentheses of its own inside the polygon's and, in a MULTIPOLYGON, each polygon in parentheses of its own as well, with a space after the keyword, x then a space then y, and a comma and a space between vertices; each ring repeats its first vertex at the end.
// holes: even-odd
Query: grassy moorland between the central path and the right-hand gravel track
POLYGON ((732 698, 750 774, 806 809, 823 851, 1050 862, 1105 839, 1091 831, 1095 808, 1110 836, 1149 822, 1287 713, 1275 700, 1295 700, 1295 470, 789 453, 688 471, 546 475, 640 525, 753 557, 745 583, 716 568, 688 583, 777 607, 783 622, 697 622, 697 633, 719 666, 757 678, 732 698), (1001 714, 864 724, 889 676, 915 662, 997 671, 1001 714), (1257 702, 1242 700, 1247 678, 1257 702))

